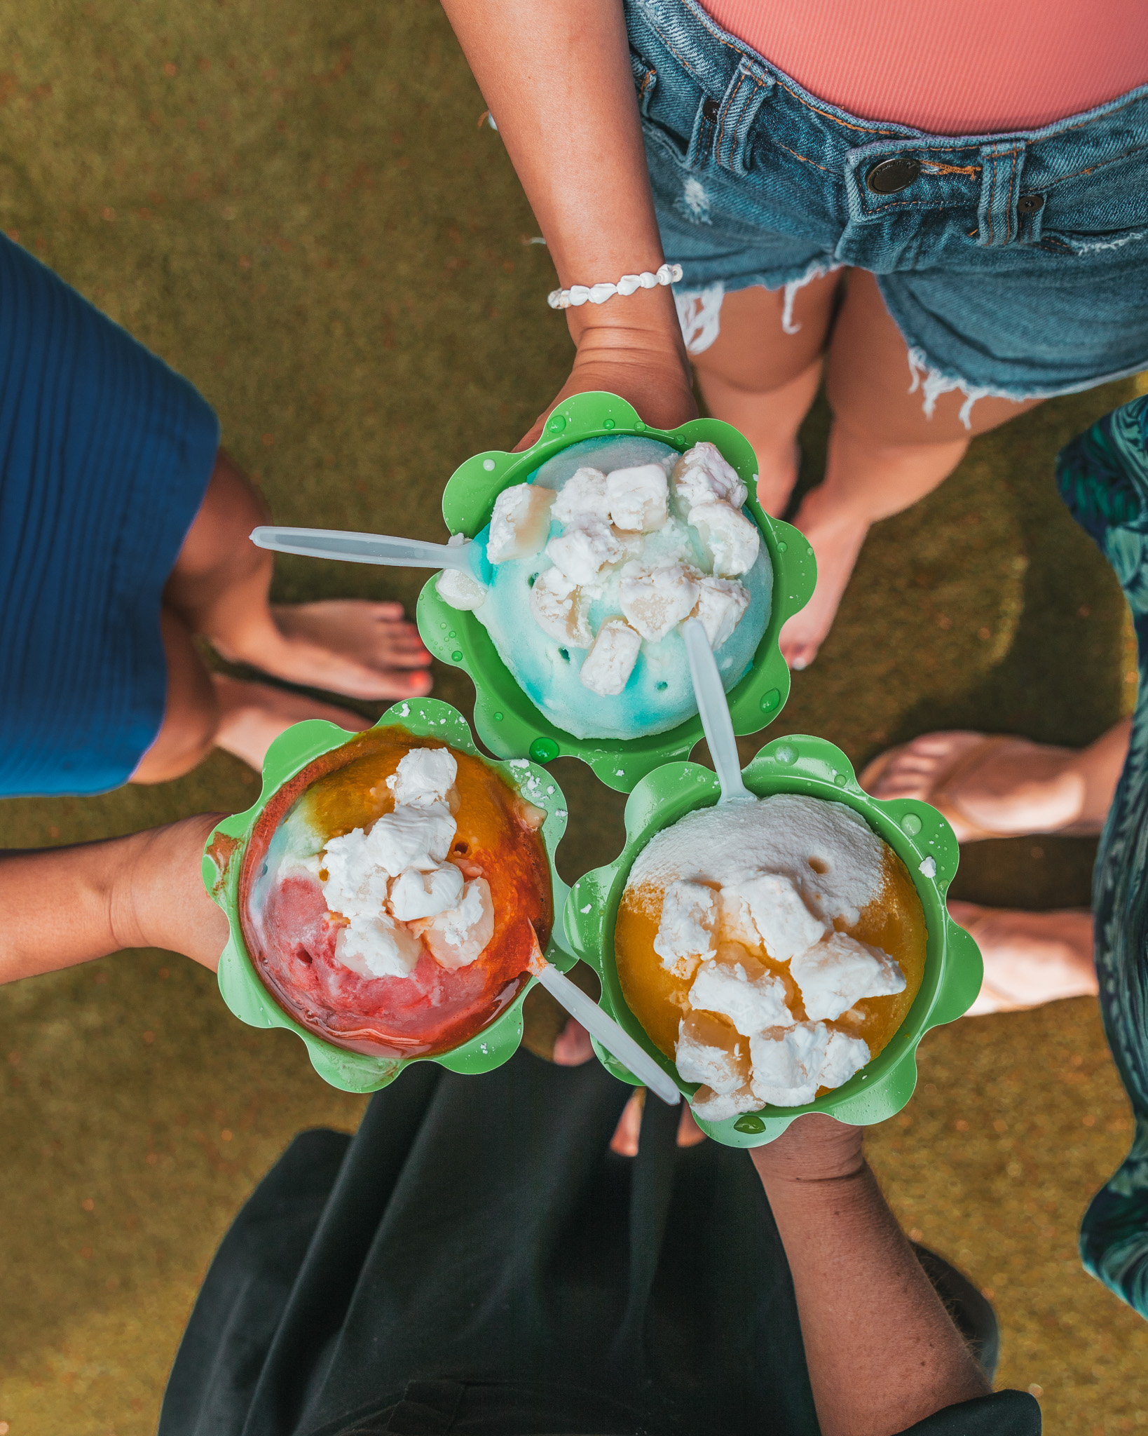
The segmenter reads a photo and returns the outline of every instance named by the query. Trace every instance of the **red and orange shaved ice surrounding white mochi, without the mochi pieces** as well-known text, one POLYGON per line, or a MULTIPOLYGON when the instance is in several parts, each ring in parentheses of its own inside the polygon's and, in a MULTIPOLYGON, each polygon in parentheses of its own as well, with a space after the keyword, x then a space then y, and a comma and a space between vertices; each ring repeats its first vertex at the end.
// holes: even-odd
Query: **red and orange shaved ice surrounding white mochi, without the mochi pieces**
POLYGON ((300 857, 268 853, 281 827, 294 839, 313 833, 316 852, 353 829, 369 831, 395 808, 386 780, 399 761, 415 748, 442 747, 390 728, 324 754, 271 798, 244 857, 240 912, 255 971, 296 1021, 352 1051, 422 1057, 468 1041, 515 999, 535 939, 545 946, 550 938, 540 811, 479 758, 453 748, 456 831, 446 862, 466 879, 485 879, 494 903, 494 935, 475 961, 442 966, 423 942, 409 975, 363 975, 336 955, 347 919, 329 910, 320 877, 300 857))

